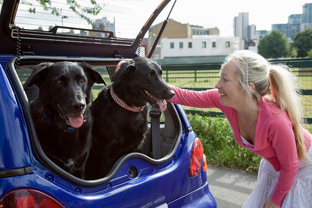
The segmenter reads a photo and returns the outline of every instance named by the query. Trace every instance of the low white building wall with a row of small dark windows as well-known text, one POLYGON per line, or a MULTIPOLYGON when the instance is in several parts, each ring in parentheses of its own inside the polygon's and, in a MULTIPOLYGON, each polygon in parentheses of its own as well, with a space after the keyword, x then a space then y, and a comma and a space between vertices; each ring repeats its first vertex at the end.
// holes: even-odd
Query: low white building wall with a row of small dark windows
POLYGON ((160 58, 162 59, 229 55, 229 53, 239 50, 239 37, 222 37, 220 35, 193 35, 193 39, 165 37, 160 40, 160 45, 160 58), (183 43, 183 48, 180 48, 180 42, 183 43), (191 42, 191 48, 189 48, 189 42, 191 42), (206 43, 206 47, 203 47, 203 42, 206 43), (173 48, 171 48, 171 43, 174 45, 173 48), (215 43, 215 47, 213 47, 213 43, 215 43))

